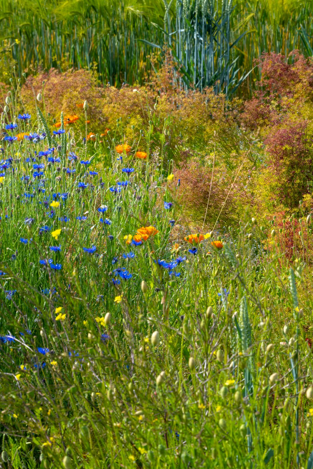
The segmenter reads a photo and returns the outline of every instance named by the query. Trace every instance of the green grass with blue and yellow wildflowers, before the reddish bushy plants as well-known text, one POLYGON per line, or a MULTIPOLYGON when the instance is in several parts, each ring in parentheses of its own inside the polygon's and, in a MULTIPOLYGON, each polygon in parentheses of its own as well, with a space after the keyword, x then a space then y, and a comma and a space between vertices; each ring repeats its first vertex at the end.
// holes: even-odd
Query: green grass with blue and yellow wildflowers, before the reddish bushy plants
MULTIPOLYGON (((10 113, 20 107, 12 90, 10 113)), ((122 121, 85 145, 50 136, 38 117, 7 132, 46 129, 43 140, 1 142, 2 466, 312 468, 313 229, 302 205, 290 223, 300 218, 307 237, 292 262, 284 229, 261 214, 192 245, 162 145, 152 164, 151 126, 147 148, 134 134, 121 160, 122 121), (158 233, 126 243, 150 225, 158 233)))

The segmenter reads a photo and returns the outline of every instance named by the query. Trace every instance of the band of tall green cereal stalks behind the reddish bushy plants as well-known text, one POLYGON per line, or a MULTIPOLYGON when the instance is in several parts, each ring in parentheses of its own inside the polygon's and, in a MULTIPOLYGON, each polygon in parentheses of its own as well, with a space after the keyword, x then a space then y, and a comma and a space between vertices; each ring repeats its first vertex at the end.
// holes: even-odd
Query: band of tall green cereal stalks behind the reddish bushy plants
POLYGON ((167 44, 185 86, 220 81, 217 91, 231 94, 244 80, 239 92, 247 94, 259 78, 253 61, 261 53, 299 49, 307 55, 300 30, 312 45, 306 1, 1 1, 0 39, 12 51, 19 76, 38 65, 84 67, 96 68, 103 83, 143 83, 150 54, 167 44))

